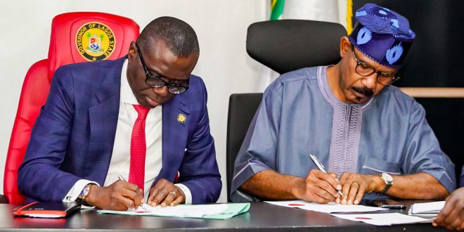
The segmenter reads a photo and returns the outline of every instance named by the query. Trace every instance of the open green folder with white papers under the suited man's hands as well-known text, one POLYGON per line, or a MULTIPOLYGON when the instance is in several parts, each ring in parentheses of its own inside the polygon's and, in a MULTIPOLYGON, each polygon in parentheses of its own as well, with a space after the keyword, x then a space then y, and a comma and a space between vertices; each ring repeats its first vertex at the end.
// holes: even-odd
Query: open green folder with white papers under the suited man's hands
POLYGON ((227 203, 210 205, 176 205, 174 207, 150 207, 146 205, 148 211, 144 210, 98 210, 100 214, 123 214, 134 216, 156 216, 156 217, 185 217, 198 219, 230 219, 238 214, 247 212, 250 203, 227 203), (219 210, 219 211, 218 211, 219 210), (212 214, 214 212, 214 214, 212 214))

